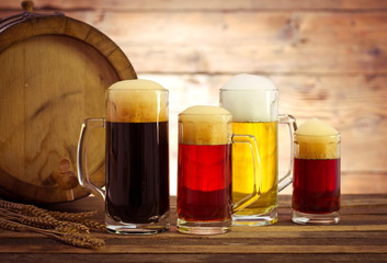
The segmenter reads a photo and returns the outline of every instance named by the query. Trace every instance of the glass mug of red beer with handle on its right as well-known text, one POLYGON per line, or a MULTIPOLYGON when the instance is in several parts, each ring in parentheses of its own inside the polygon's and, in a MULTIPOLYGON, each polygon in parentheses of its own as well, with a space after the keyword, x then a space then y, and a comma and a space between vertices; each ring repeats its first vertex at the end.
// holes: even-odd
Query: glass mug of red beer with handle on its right
POLYGON ((232 116, 218 106, 193 106, 179 114, 178 230, 216 235, 230 230, 231 214, 259 197, 259 155, 253 136, 232 135, 232 116), (232 205, 231 145, 251 155, 251 192, 232 205))

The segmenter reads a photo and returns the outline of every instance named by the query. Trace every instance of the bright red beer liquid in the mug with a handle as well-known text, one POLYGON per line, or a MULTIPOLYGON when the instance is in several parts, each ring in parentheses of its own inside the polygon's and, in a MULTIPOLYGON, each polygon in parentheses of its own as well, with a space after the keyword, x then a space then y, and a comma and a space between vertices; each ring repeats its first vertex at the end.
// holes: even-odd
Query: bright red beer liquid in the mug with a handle
POLYGON ((231 218, 230 149, 230 145, 179 144, 179 218, 186 221, 231 218))

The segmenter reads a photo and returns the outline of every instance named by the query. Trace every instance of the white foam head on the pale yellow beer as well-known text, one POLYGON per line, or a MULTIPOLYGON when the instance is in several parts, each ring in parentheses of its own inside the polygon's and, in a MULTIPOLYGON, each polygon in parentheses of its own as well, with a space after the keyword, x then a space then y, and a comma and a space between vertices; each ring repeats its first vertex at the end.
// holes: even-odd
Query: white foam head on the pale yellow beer
POLYGON ((220 104, 231 112, 234 122, 276 122, 277 89, 262 76, 237 75, 220 89, 220 104))

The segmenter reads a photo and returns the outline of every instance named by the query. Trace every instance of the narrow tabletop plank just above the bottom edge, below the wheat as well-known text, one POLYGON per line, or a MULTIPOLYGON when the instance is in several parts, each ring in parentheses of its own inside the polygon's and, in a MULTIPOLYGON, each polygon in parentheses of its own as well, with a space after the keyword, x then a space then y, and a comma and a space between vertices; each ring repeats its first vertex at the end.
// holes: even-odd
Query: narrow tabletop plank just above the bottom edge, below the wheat
MULTIPOLYGON (((68 248, 66 253, 81 254, 268 254, 268 253, 293 253, 293 254, 362 254, 378 253, 385 254, 387 245, 105 245, 98 250, 88 250, 79 248, 68 248)), ((61 254, 64 249, 60 245, 37 245, 31 244, 21 248, 20 245, 2 245, 0 253, 39 253, 39 254, 61 254)))

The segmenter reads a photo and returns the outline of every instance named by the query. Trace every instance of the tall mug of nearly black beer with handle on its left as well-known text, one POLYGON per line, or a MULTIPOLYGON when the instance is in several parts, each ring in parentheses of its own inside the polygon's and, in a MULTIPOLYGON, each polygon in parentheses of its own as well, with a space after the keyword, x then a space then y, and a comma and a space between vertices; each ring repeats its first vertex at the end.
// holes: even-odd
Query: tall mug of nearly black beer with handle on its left
POLYGON ((115 233, 157 233, 169 220, 168 90, 148 80, 125 80, 106 90, 106 119, 86 119, 78 144, 78 180, 105 201, 105 224, 115 233), (93 127, 106 129, 106 190, 89 180, 87 144, 93 127))

